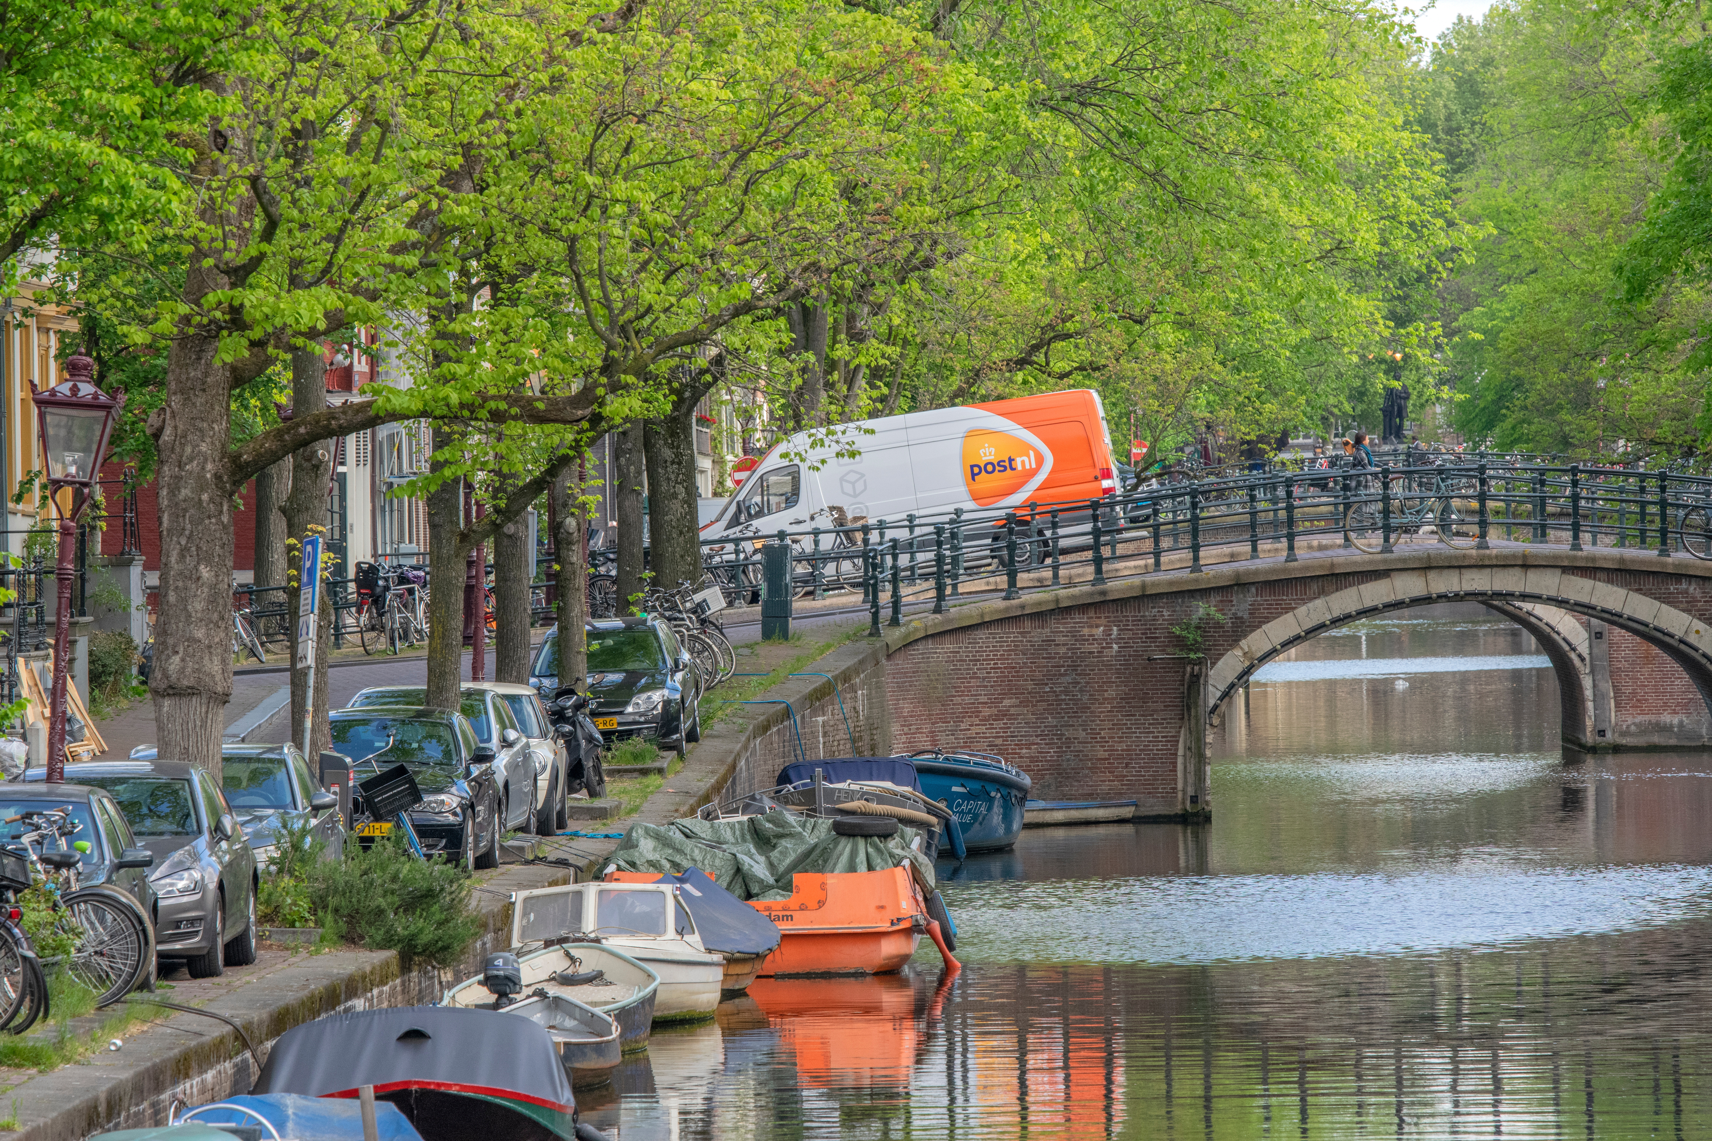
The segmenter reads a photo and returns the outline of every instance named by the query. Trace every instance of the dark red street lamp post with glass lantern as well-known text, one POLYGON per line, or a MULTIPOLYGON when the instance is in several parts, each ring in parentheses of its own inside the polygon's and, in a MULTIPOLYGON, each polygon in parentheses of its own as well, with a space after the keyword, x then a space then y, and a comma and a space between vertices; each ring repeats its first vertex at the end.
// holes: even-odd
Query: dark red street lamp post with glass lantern
MULTIPOLYGON (((77 517, 91 500, 101 472, 101 457, 113 433, 123 397, 115 400, 94 385, 96 363, 79 352, 65 363, 65 380, 46 392, 31 393, 41 426, 41 455, 48 469, 48 494, 72 493, 68 511, 60 511, 60 559, 53 576, 60 585, 53 626, 53 695, 48 703, 48 780, 65 780, 65 665, 72 638, 72 578, 77 517)), ((55 505, 58 500, 55 498, 55 505)))

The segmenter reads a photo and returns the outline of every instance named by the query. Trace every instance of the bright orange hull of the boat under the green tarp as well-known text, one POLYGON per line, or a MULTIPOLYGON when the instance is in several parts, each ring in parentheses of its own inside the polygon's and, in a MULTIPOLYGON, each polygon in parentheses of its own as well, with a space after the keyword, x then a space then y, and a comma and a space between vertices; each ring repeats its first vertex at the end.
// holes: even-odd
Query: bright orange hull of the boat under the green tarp
POLYGON ((871 872, 796 872, 791 898, 750 900, 779 929, 779 949, 760 968, 774 975, 882 975, 916 953, 928 929, 907 867, 871 872))

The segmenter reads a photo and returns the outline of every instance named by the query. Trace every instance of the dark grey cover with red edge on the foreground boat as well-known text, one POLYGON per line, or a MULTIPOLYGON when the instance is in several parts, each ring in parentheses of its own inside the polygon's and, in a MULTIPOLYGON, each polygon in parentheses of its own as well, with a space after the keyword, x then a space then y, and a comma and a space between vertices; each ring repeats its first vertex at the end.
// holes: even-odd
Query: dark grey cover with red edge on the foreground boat
POLYGON ((279 1035, 250 1093, 356 1097, 358 1086, 375 1086, 377 1097, 462 1095, 575 1136, 577 1102, 553 1038, 503 1011, 397 1006, 317 1018, 279 1035))

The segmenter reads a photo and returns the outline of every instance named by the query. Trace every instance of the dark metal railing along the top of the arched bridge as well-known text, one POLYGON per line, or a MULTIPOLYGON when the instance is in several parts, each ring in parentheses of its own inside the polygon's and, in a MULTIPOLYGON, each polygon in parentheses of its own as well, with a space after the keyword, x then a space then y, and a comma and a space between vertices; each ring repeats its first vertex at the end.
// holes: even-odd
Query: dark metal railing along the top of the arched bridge
POLYGON ((765 534, 728 525, 702 541, 704 568, 728 600, 758 602, 762 546, 788 544, 798 597, 854 602, 859 594, 878 633, 883 611, 901 624, 906 606, 930 599, 940 612, 960 597, 1193 573, 1214 558, 1294 561, 1303 549, 1387 554, 1423 542, 1507 542, 1712 558, 1712 477, 1515 457, 1402 458, 1366 470, 1340 464, 1156 481, 1094 500, 902 520, 822 510, 765 534))

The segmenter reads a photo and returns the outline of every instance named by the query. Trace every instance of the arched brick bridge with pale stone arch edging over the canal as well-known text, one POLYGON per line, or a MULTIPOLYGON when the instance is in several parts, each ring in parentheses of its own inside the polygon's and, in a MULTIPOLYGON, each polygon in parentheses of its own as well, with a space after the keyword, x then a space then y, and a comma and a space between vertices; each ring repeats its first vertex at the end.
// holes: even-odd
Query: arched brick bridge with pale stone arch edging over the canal
POLYGON ((921 616, 885 631, 890 739, 998 753, 1046 799, 1193 816, 1210 809, 1207 724, 1260 665, 1335 626, 1448 600, 1539 640, 1566 751, 1712 744, 1712 563, 1525 544, 1306 554, 921 616), (1173 628, 1202 606, 1226 621, 1200 623, 1205 659, 1181 657, 1173 628))

